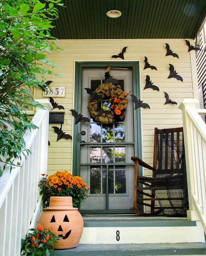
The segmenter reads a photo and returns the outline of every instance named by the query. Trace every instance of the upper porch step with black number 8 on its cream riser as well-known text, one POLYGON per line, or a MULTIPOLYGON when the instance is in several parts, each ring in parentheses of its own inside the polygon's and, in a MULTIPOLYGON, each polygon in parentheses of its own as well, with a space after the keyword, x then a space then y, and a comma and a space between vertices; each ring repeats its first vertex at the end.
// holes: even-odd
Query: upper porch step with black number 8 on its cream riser
MULTIPOLYGON (((84 216, 80 244, 145 244, 205 242, 199 221, 186 218, 84 216)), ((81 247, 82 248, 82 247, 81 247)))

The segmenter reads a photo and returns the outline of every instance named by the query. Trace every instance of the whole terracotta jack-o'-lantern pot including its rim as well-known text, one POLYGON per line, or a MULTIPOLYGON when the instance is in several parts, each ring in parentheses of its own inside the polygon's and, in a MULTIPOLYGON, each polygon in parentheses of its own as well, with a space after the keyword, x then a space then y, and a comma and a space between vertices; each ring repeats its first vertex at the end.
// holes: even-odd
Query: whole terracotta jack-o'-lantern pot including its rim
POLYGON ((84 222, 78 208, 73 208, 72 197, 50 197, 49 207, 45 208, 38 224, 49 228, 58 237, 55 249, 77 247, 82 236, 84 222))

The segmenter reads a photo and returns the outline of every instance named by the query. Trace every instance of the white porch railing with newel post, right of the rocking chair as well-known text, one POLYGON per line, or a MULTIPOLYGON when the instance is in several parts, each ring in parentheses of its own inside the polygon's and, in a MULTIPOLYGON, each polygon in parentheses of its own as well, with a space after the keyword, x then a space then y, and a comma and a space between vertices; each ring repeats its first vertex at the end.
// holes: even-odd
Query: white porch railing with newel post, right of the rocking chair
POLYGON ((206 233, 206 124, 199 114, 206 109, 196 109, 195 99, 182 100, 182 110, 188 194, 190 210, 188 219, 197 220, 197 215, 206 233))

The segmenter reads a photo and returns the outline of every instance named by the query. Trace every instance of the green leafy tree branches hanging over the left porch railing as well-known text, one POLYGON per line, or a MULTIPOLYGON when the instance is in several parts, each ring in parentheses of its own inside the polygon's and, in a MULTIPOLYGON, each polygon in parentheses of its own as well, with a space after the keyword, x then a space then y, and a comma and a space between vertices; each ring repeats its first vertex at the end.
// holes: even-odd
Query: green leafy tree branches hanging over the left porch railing
MULTIPOLYGON (((59 50, 49 30, 58 18, 55 5, 61 0, 0 0, 0 161, 13 163, 20 153, 28 154, 22 138, 35 126, 25 111, 35 102, 31 92, 45 86, 45 74, 56 67, 47 52, 59 50), (45 68, 48 67, 48 68, 45 68), (2 129, 4 124, 11 129, 2 129)), ((0 176, 5 165, 0 169, 0 176)))

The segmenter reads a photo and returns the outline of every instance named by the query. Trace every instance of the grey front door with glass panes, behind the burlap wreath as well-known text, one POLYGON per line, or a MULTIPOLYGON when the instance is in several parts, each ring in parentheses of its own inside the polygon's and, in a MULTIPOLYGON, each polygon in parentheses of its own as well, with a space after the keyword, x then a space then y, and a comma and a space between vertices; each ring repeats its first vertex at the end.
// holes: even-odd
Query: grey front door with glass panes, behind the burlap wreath
MULTIPOLYGON (((82 69, 81 113, 90 118, 81 123, 80 176, 89 186, 89 197, 81 204, 81 210, 120 210, 133 206, 134 126, 133 102, 128 96, 125 119, 114 124, 102 124, 91 118, 88 98, 84 88, 96 89, 104 82, 102 68, 82 69)), ((132 70, 111 69, 125 92, 132 94, 132 70)), ((102 104, 105 104, 102 100, 102 104)), ((107 104, 107 103, 106 103, 107 104)))

